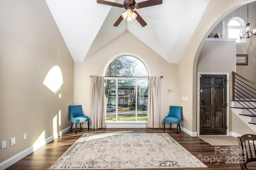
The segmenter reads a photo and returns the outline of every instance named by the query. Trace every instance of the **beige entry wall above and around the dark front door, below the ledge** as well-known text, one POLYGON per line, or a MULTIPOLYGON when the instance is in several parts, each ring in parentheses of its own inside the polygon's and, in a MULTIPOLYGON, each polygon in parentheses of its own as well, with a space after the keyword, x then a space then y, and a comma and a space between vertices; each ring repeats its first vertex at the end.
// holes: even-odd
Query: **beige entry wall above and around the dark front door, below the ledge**
MULTIPOLYGON (((232 99, 232 71, 236 70, 236 39, 208 38, 198 58, 197 72, 230 73, 230 101, 232 99)), ((198 84, 197 84, 198 86, 198 84)), ((197 101, 198 101, 197 96, 197 101)), ((197 106, 198 106, 197 102, 197 106)), ((198 110, 197 110, 198 112, 198 110)), ((230 132, 237 134, 252 133, 252 130, 229 109, 230 132), (238 126, 239 125, 239 126, 238 126)))

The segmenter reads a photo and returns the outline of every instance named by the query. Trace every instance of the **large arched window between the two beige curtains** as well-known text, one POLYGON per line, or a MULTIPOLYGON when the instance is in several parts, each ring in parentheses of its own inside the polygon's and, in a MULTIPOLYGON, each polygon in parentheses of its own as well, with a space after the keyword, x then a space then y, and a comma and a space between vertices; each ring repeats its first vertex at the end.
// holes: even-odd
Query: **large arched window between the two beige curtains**
POLYGON ((148 69, 141 59, 122 55, 105 71, 106 122, 147 120, 148 69))

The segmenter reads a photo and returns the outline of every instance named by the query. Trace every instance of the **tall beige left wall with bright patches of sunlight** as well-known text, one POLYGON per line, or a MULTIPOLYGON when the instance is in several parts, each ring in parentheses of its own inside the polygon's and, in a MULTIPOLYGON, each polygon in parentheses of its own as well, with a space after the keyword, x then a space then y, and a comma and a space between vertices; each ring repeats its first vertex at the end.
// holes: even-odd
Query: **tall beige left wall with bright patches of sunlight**
POLYGON ((6 148, 0 149, 3 169, 5 160, 17 154, 20 158, 24 150, 36 150, 35 145, 45 144, 45 139, 70 126, 74 62, 44 0, 0 1, 0 23, 0 141, 6 141, 6 148), (48 74, 54 66, 60 74, 48 74), (62 78, 58 92, 44 85, 47 75, 54 78, 48 87, 62 78), (16 145, 10 146, 13 137, 16 145))

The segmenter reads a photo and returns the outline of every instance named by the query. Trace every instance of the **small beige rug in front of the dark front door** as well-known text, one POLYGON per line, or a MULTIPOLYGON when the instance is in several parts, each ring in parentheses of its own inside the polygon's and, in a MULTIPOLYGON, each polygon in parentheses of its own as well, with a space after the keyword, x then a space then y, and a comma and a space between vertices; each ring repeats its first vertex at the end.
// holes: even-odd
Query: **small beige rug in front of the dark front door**
POLYGON ((232 146, 238 145, 236 137, 232 136, 198 136, 212 146, 232 146))

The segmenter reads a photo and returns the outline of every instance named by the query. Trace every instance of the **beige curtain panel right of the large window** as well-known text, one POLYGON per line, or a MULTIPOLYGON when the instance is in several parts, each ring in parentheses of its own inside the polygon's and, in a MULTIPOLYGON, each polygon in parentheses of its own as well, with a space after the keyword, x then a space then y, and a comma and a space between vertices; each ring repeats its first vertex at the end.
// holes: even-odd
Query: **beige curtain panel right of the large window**
POLYGON ((148 120, 147 127, 161 128, 160 120, 160 76, 149 77, 149 97, 148 97, 148 120))

